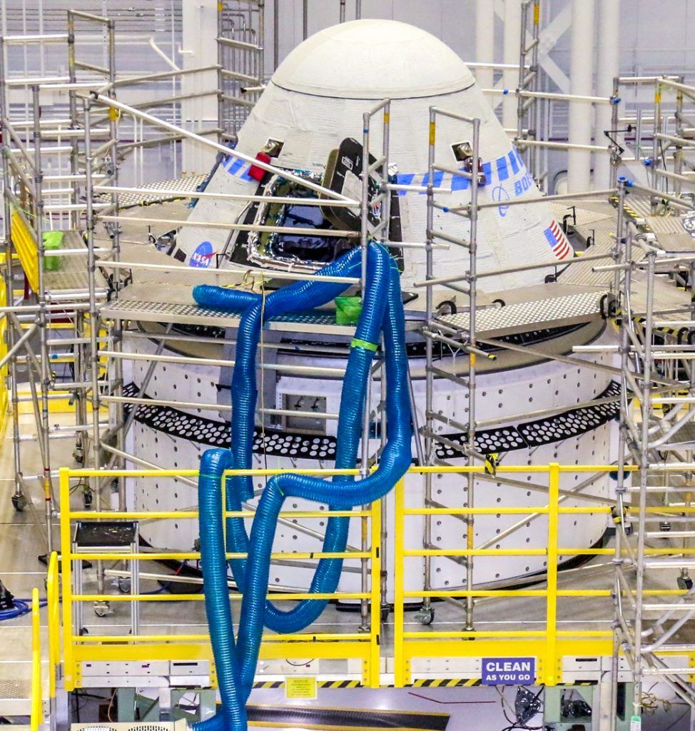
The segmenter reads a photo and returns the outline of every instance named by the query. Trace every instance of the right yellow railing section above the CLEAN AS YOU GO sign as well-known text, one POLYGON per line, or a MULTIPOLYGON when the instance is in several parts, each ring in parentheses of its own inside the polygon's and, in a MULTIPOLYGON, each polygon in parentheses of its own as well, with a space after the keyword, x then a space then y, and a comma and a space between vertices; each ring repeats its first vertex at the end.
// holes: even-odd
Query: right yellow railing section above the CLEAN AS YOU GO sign
MULTIPOLYGON (((626 471, 634 471, 634 466, 626 471)), ((417 658, 471 658, 485 657, 530 657, 537 659, 536 681, 545 685, 556 685, 562 681, 562 659, 566 656, 607 656, 612 654, 612 616, 604 629, 558 629, 558 599, 567 597, 589 598, 612 596, 612 577, 607 588, 558 588, 558 557, 562 556, 615 556, 614 548, 563 548, 558 534, 561 515, 611 512, 611 506, 593 502, 588 506, 564 506, 561 504, 560 477, 563 473, 607 473, 615 472, 615 465, 563 466, 552 463, 547 466, 498 466, 497 474, 547 474, 547 504, 524 507, 406 507, 406 492, 403 482, 395 488, 395 685, 411 682, 411 662, 417 658), (547 515, 547 546, 544 548, 422 548, 406 549, 406 520, 411 516, 425 515, 547 515), (405 577, 408 575, 408 559, 425 556, 545 556, 547 575, 545 588, 534 589, 434 589, 424 588, 406 591, 405 577), (525 616, 514 617, 509 610, 509 629, 418 632, 406 630, 406 599, 438 599, 441 597, 461 599, 466 597, 521 598, 536 597, 544 601, 544 623, 542 629, 515 629, 525 624, 525 616), (474 640, 474 641, 462 641, 474 640)), ((481 474, 484 466, 435 466, 414 467, 412 472, 425 474, 481 474)), ((577 498, 581 498, 577 493, 577 498)), ((588 499, 589 496, 583 496, 588 499)), ((635 512, 637 507, 631 508, 635 512)), ((664 507, 647 507, 647 512, 664 512, 664 507)), ((689 507, 677 507, 672 512, 695 512, 689 507)), ((629 549, 628 549, 629 550, 629 549)), ((646 548, 645 555, 667 555, 669 553, 694 554, 695 548, 646 548)), ((539 583, 542 580, 539 579, 539 583)), ((682 595, 680 589, 645 590, 644 596, 682 595)), ((510 605, 511 606, 511 605, 510 605)), ((666 653, 664 653, 666 654, 666 653)))

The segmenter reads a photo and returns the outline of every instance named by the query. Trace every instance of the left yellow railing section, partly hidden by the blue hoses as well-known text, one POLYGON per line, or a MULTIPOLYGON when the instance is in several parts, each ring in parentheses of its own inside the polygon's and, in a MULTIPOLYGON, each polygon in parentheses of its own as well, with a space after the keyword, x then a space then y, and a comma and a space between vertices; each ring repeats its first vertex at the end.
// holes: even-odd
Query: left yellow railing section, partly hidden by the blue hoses
MULTIPOLYGON (((288 470, 257 469, 229 470, 226 477, 252 475, 265 477, 288 470)), ((357 470, 294 470, 299 474, 320 474, 326 477, 333 474, 358 474, 357 470)), ((93 552, 75 553, 72 546, 72 524, 75 520, 196 520, 197 510, 118 512, 113 510, 72 510, 70 507, 71 480, 94 477, 137 477, 147 478, 196 478, 197 470, 93 470, 67 469, 60 471, 61 496, 61 567, 63 581, 63 655, 64 682, 67 690, 81 685, 83 662, 96 660, 107 662, 167 660, 212 660, 212 651, 207 634, 162 634, 162 635, 80 635, 75 633, 73 606, 76 602, 200 602, 202 594, 73 594, 72 572, 77 561, 186 561, 200 559, 195 551, 176 552, 137 552, 113 553, 93 552)), ((224 510, 228 518, 253 518, 254 512, 224 510)), ((379 556, 381 531, 381 504, 373 503, 363 510, 284 510, 281 518, 316 518, 326 520, 330 516, 345 516, 362 522, 362 537, 368 538, 366 550, 346 550, 341 553, 281 552, 273 553, 276 561, 314 561, 319 558, 344 558, 367 561, 371 586, 368 591, 335 591, 330 594, 278 593, 268 594, 274 601, 296 601, 297 599, 360 600, 370 602, 371 623, 368 632, 328 633, 307 632, 293 635, 265 635, 263 637, 260 659, 285 660, 303 659, 359 659, 362 667, 362 682, 372 687, 379 686, 379 626, 381 596, 379 576, 381 562, 379 556), (366 532, 365 532, 366 531, 366 532)), ((245 558, 246 553, 227 553, 227 558, 245 558)), ((241 599, 240 594, 230 594, 232 602, 241 599)))

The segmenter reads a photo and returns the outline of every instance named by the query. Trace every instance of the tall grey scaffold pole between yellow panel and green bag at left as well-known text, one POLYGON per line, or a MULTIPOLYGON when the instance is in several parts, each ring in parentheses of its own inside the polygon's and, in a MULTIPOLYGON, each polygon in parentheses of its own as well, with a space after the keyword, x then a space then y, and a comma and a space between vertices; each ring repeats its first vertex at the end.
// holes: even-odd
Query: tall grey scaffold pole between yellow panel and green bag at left
POLYGON ((45 244, 43 240, 43 169, 41 159, 41 105, 39 86, 31 87, 31 105, 34 113, 34 232, 37 237, 37 254, 39 269, 38 324, 41 351, 41 420, 37 424, 39 439, 43 444, 43 493, 46 505, 46 534, 48 536, 48 553, 53 550, 53 485, 50 482, 50 439, 48 437, 48 391, 50 390, 50 362, 48 360, 48 315, 46 312, 45 284, 45 244))

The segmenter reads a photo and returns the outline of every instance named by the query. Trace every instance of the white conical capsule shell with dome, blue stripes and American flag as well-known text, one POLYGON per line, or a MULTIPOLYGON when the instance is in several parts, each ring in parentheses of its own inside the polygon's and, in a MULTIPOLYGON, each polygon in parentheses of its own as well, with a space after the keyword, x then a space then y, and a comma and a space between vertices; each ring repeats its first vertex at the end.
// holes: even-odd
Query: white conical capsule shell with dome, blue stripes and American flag
MULTIPOLYGON (((270 137, 284 146, 273 163, 289 170, 322 173, 328 154, 346 137, 362 140, 362 114, 375 100, 392 99, 390 163, 400 183, 428 182, 428 124, 430 106, 480 118, 480 157, 486 183, 479 201, 500 202, 483 209, 478 228, 478 269, 489 271, 572 256, 569 241, 545 203, 506 206, 519 197, 539 197, 539 191, 509 142, 487 99, 466 64, 432 35, 392 20, 355 20, 320 31, 295 48, 278 67, 239 132, 238 150, 255 156, 270 137)), ((381 115, 371 124, 370 150, 381 155, 381 115)), ((436 162, 461 169, 452 145, 471 142, 472 126, 438 116, 436 162)), ((232 156, 220 164, 208 184, 209 192, 253 193, 257 181, 248 176, 247 163, 232 156)), ((436 174, 438 194, 449 207, 470 202, 466 178, 436 174), (440 179, 441 177, 441 179, 440 179)), ((242 202, 199 200, 178 246, 191 265, 214 265, 229 237, 224 229, 205 228, 205 221, 237 221, 242 202), (208 243, 206 243, 208 242, 208 243), (196 254, 197 252, 197 254, 196 254), (201 253, 203 254, 201 256, 201 253), (192 255, 192 256, 191 256, 192 255), (212 262, 212 264, 210 264, 212 262)), ((400 195, 403 240, 425 240, 425 195, 400 195)), ((436 211, 435 229, 466 240, 469 221, 455 213, 436 211)), ((425 251, 406 249, 403 287, 422 279, 425 251)), ((435 273, 463 273, 468 251, 452 246, 436 255, 435 273), (445 266, 444 266, 445 264, 445 266)), ((499 291, 542 282, 551 270, 531 270, 479 281, 484 291, 499 291)))

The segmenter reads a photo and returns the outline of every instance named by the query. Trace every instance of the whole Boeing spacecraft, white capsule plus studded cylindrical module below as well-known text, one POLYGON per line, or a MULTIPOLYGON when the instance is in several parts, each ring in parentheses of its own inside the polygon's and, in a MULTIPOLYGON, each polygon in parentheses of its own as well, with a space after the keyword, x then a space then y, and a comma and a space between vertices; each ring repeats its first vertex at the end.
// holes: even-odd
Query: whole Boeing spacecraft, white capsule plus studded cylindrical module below
MULTIPOLYGON (((479 273, 512 270, 519 265, 557 261, 558 265, 574 257, 571 243, 545 202, 533 205, 505 205, 511 200, 532 200, 539 197, 533 179, 520 155, 509 143, 508 136, 493 113, 473 75, 458 56, 441 41, 404 23, 387 20, 359 20, 334 26, 310 37, 295 48, 278 67, 259 101, 248 115, 238 135, 236 149, 248 156, 262 154, 278 168, 312 181, 326 181, 343 165, 346 181, 359 181, 359 170, 350 173, 354 155, 361 154, 362 114, 376 101, 391 99, 390 105, 390 175, 403 186, 428 184, 428 123, 431 106, 479 118, 480 176, 479 202, 498 202, 496 207, 483 208, 478 219, 477 268, 479 273), (352 175, 352 178, 350 178, 352 175)), ((371 129, 373 149, 381 149, 381 126, 371 129)), ((465 170, 466 154, 471 145, 471 125, 441 117, 437 125, 436 163, 442 167, 465 170)), ((352 166, 354 167, 354 166, 352 166)), ((470 181, 463 175, 438 173, 432 181, 438 189, 448 189, 447 208, 470 202, 470 181)), ((194 268, 254 268, 267 272, 265 286, 273 288, 273 272, 278 270, 314 271, 338 258, 359 239, 345 238, 341 216, 325 208, 302 206, 303 191, 296 183, 280 175, 265 173, 229 156, 213 170, 208 192, 227 194, 265 194, 297 197, 296 205, 238 200, 197 200, 190 213, 195 226, 178 231, 170 256, 181 265, 194 268), (335 229, 335 237, 311 235, 265 234, 224 227, 208 227, 213 222, 237 221, 262 223, 270 221, 285 227, 335 229)), ((357 186, 359 192, 359 186, 357 186)), ((444 197, 444 196, 443 196, 444 197)), ((390 240, 403 243, 424 243, 426 236, 426 196, 422 190, 400 190, 392 193, 390 240)), ((338 209, 335 209, 338 210, 338 209)), ((344 210, 344 209, 343 209, 344 210)), ((434 227, 458 239, 466 240, 470 221, 451 211, 437 210, 434 227)), ((408 323, 409 366, 414 386, 418 421, 425 423, 425 360, 424 340, 419 326, 425 317, 425 289, 414 287, 425 279, 425 249, 403 246, 391 249, 402 271, 401 288, 408 323)), ((468 251, 452 245, 434 253, 436 273, 457 275, 468 269, 468 251)), ((551 307, 559 295, 571 292, 571 284, 562 278, 547 284, 554 268, 530 269, 498 273, 477 282, 482 293, 482 306, 495 308, 504 320, 504 306, 528 302, 533 307, 551 307)), ((276 280, 277 281, 277 280, 276 280)), ((279 285, 278 285, 279 286, 279 285)), ((451 289, 435 289, 434 304, 442 312, 463 308, 466 297, 451 289)), ((539 317, 542 319, 542 317, 539 317)), ((164 326, 141 323, 140 327, 161 333, 164 326)), ((575 344, 587 344, 604 333, 604 321, 563 324, 559 327, 509 328, 502 340, 524 346, 535 346, 545 353, 567 354, 575 344)), ((175 326, 172 333, 190 333, 175 326)), ((203 332, 198 327, 197 333, 203 332)), ((235 332, 221 328, 204 330, 219 337, 217 344, 196 344, 181 339, 167 340, 167 349, 186 355, 204 355, 234 360, 235 332)), ((265 347, 259 357, 266 363, 279 365, 344 366, 345 338, 335 328, 311 325, 305 334, 264 331, 265 347)), ((128 338, 125 346, 141 353, 153 353, 154 341, 128 338)), ((494 348, 497 359, 479 364, 476 386, 476 423, 482 423, 476 435, 479 452, 497 452, 508 463, 543 464, 557 461, 564 464, 609 463, 612 454, 612 429, 615 428, 612 406, 577 409, 577 404, 615 393, 607 371, 578 367, 576 363, 550 360, 536 352, 494 348), (534 417, 534 412, 545 412, 534 417), (550 412, 550 415, 547 415, 550 412)), ((607 355, 590 355, 609 365, 607 355)), ((468 392, 465 382, 468 358, 446 346, 436 351, 436 368, 459 376, 462 385, 451 379, 435 378, 433 421, 436 434, 436 460, 463 464, 466 434, 452 424, 466 425, 468 392), (460 448, 459 448, 460 447, 460 448)), ((143 382, 148 363, 136 361, 132 381, 143 382)), ((157 400, 200 401, 228 406, 231 368, 179 366, 167 363, 156 367, 146 395, 157 400)), ((330 467, 335 454, 335 420, 311 417, 335 414, 341 395, 341 377, 309 377, 287 375, 276 370, 259 371, 259 403, 281 415, 265 414, 257 419, 254 444, 254 466, 262 467, 330 467), (297 412, 297 415, 292 415, 297 412)), ((372 405, 378 402, 378 385, 373 389, 372 405)), ((212 409, 177 410, 168 406, 140 409, 129 439, 129 451, 144 459, 153 459, 172 467, 196 463, 208 446, 229 444, 228 411, 212 409)), ((375 447, 379 428, 373 424, 375 447)), ((232 445, 232 448, 234 445, 232 445)), ((416 453, 416 450, 413 450, 416 453)), ((476 480, 475 504, 478 507, 523 507, 542 502, 542 494, 534 492, 533 483, 542 480, 535 474, 514 475, 514 480, 488 476, 476 480), (514 484, 512 484, 512 482, 514 484), (529 483, 529 488, 525 488, 529 483)), ((585 486, 592 494, 607 495, 610 478, 585 486)), ((571 490, 580 484, 580 477, 563 475, 561 488, 571 490)), ((262 490, 262 480, 254 485, 262 490)), ((135 482, 137 510, 173 510, 196 503, 195 488, 176 480, 135 482)), ((409 475, 406 490, 414 504, 422 504, 424 478, 409 475)), ((444 505, 465 505, 465 477, 438 474, 433 479, 432 497, 444 505)), ((302 501, 295 501, 302 507, 302 501)), ((567 504, 586 501, 569 499, 567 504)), ((308 508, 313 508, 306 504, 308 508)), ((519 521, 518 515, 480 515, 474 523, 474 545, 492 548, 518 546, 525 541, 528 548, 544 548, 544 517, 528 520, 517 526, 513 534, 506 529, 519 521), (520 538, 521 537, 521 538, 520 538)), ((349 538, 351 545, 360 545, 358 521, 349 538)), ((148 523, 142 526, 143 537, 152 545, 188 550, 197 539, 194 521, 181 521, 172 526, 148 523)), ((586 548, 598 542, 606 528, 604 514, 561 515, 563 546, 586 548)), ((410 525, 410 524, 409 524, 410 525)), ((415 525, 413 523, 412 525, 415 525)), ((306 527, 309 527, 307 523, 306 527)), ((311 530, 283 524, 278 526, 276 550, 318 550, 319 537, 311 530)), ((316 523, 311 523, 316 529, 316 523)), ((451 516, 433 519, 431 547, 449 548, 457 542, 463 547, 466 524, 451 516)), ((413 530, 409 538, 412 548, 422 548, 422 532, 413 530)), ((392 561, 392 550, 387 550, 392 561)), ((561 561, 569 557, 561 557, 561 561)), ((298 562, 299 563, 299 562, 298 562)), ((509 556, 504 572, 499 561, 485 556, 476 558, 476 585, 501 582, 544 569, 543 556, 509 556)), ((305 587, 311 577, 307 567, 273 564, 270 583, 277 586, 305 587)), ((341 589, 356 591, 359 572, 343 575, 341 589)), ((422 587, 422 576, 414 577, 413 586, 422 587)), ((432 560, 432 586, 457 588, 466 585, 466 567, 446 557, 432 560)), ((391 589, 390 589, 391 590, 391 589)))

